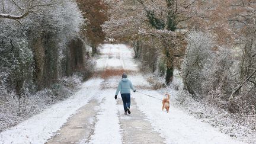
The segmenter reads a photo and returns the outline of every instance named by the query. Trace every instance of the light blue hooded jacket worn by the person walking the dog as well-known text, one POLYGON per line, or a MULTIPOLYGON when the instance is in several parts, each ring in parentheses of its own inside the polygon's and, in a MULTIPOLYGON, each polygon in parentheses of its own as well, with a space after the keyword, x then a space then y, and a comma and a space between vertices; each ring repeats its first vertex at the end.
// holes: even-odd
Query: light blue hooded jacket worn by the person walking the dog
POLYGON ((133 89, 133 91, 135 91, 132 82, 127 78, 122 78, 119 82, 119 86, 117 87, 116 95, 119 94, 119 91, 121 91, 121 94, 130 94, 130 89, 133 89))

